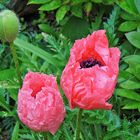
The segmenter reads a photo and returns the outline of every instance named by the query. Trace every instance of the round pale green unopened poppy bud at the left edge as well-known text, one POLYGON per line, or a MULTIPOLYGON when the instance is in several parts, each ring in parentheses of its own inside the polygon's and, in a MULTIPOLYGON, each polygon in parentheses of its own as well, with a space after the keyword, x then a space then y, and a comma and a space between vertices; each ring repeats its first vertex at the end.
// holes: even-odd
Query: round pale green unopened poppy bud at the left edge
POLYGON ((0 40, 13 42, 19 31, 19 20, 16 14, 10 10, 0 12, 0 40))

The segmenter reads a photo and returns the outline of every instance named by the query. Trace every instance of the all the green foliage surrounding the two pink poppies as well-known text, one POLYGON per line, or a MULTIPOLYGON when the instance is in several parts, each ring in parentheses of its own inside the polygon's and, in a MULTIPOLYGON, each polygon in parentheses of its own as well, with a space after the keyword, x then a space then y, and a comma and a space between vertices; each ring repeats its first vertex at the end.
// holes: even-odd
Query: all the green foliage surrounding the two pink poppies
MULTIPOLYGON (((8 0, 1 1, 5 9, 8 0)), ((110 47, 121 50, 120 72, 110 111, 84 110, 80 140, 140 139, 140 2, 139 0, 29 0, 39 6, 31 21, 20 18, 14 45, 22 78, 27 71, 60 77, 76 39, 105 29, 110 47), (32 26, 30 26, 32 25, 32 26), (124 33, 127 32, 127 33, 124 33)), ((17 116, 18 79, 8 44, 0 44, 0 139, 43 140, 46 135, 27 128, 17 116)), ((61 90, 61 89, 60 89, 61 90)), ((73 140, 77 109, 67 111, 50 140, 73 140)))

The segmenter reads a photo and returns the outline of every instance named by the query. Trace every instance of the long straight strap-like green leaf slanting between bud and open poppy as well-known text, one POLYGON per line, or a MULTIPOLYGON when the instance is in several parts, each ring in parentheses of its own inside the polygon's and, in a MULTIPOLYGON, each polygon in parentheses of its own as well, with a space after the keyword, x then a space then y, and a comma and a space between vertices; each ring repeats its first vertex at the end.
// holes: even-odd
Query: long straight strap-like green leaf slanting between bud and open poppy
POLYGON ((19 39, 17 38, 15 41, 14 41, 14 44, 19 47, 19 48, 23 48, 25 50, 28 50, 30 52, 32 52, 33 54, 39 56, 40 58, 46 60, 48 63, 56 66, 58 64, 62 64, 62 62, 58 62, 54 57, 53 55, 51 55, 50 53, 42 50, 41 48, 37 47, 37 46, 34 46, 22 39, 19 39))

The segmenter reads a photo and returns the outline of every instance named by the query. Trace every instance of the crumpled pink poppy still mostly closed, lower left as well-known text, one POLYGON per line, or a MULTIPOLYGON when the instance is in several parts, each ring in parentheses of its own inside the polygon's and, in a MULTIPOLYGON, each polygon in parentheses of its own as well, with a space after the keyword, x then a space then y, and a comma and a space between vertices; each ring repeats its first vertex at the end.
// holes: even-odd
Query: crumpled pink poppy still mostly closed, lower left
POLYGON ((18 94, 18 116, 35 131, 54 134, 65 117, 65 108, 52 75, 28 72, 18 94))

